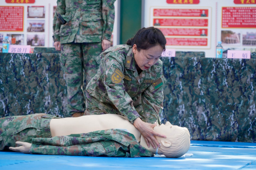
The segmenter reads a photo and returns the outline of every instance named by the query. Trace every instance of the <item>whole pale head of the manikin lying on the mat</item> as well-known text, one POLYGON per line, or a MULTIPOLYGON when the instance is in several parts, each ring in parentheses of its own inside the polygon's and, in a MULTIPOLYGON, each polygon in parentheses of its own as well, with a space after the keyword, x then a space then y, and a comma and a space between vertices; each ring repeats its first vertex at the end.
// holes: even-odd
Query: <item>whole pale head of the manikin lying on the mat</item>
POLYGON ((189 150, 190 134, 187 128, 166 122, 155 126, 154 131, 166 136, 166 138, 156 137, 161 146, 158 149, 158 154, 176 158, 186 154, 189 150))

